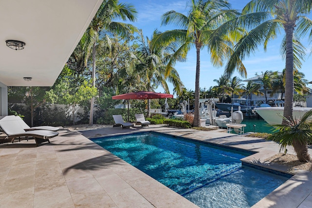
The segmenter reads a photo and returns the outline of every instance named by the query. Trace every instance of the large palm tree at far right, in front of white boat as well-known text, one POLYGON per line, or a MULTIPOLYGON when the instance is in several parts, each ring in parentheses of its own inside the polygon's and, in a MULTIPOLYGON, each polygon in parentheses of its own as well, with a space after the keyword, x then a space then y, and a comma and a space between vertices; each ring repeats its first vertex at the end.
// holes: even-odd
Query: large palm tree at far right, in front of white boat
MULTIPOLYGON (((251 31, 241 38, 235 46, 226 72, 232 74, 234 67, 241 65, 241 60, 257 50, 260 43, 267 43, 275 38, 280 30, 284 30, 285 37, 281 46, 285 64, 285 108, 284 117, 292 116, 293 102, 293 71, 300 69, 305 49, 299 38, 306 35, 312 28, 312 20, 306 17, 311 12, 311 0, 251 0, 243 9, 237 23, 251 31)), ((310 38, 312 34, 310 33, 310 38)), ((286 124, 286 120, 283 119, 286 124)))

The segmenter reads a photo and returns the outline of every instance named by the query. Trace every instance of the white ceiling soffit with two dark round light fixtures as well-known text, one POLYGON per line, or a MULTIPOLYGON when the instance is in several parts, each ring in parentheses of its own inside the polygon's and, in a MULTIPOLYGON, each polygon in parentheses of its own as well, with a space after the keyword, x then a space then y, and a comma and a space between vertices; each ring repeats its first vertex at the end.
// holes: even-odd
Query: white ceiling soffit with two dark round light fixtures
POLYGON ((2 0, 0 82, 52 86, 98 11, 102 0, 2 0), (5 40, 20 40, 15 51, 5 40), (23 77, 32 77, 31 81, 23 77))

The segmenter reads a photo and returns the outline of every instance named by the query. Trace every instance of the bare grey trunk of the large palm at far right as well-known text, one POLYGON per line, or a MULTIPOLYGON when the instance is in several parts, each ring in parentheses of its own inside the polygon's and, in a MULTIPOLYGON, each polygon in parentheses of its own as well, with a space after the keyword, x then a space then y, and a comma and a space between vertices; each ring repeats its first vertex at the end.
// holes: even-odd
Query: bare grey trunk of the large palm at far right
MULTIPOLYGON (((284 117, 290 119, 292 117, 292 103, 293 103, 293 46, 292 36, 294 23, 284 25, 286 33, 286 66, 285 66, 285 104, 284 104, 284 117)), ((283 119, 283 124, 286 124, 283 119)), ((296 151, 296 150, 295 150, 296 151)))

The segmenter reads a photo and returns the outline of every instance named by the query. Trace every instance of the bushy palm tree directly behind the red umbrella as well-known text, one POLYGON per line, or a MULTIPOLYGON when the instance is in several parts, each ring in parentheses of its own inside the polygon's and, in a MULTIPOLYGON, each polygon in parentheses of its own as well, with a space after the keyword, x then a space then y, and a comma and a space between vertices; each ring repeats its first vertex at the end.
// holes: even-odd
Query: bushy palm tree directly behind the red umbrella
MULTIPOLYGON (((153 37, 159 32, 154 31, 153 37)), ((170 73, 165 76, 166 64, 172 56, 170 48, 166 47, 151 47, 151 40, 144 38, 142 31, 139 31, 139 47, 137 53, 133 54, 133 60, 130 64, 132 72, 137 73, 140 79, 145 83, 145 90, 148 92, 154 91, 161 85, 166 93, 169 92, 167 81, 174 85, 174 90, 177 94, 181 94, 183 83, 175 68, 172 67, 170 73)), ((150 117, 151 100, 147 101, 147 116, 150 117)))

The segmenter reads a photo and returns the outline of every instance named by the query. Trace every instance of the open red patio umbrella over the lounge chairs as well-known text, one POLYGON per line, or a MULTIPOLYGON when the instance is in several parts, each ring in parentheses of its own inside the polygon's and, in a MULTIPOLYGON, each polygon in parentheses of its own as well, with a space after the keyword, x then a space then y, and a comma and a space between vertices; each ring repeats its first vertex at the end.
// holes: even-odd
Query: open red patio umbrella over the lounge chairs
POLYGON ((129 99, 143 100, 143 99, 157 99, 157 98, 174 98, 174 95, 139 91, 136 93, 127 93, 127 94, 112 96, 113 100, 128 100, 128 121, 129 121, 129 99))

